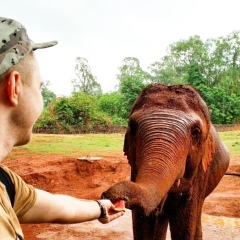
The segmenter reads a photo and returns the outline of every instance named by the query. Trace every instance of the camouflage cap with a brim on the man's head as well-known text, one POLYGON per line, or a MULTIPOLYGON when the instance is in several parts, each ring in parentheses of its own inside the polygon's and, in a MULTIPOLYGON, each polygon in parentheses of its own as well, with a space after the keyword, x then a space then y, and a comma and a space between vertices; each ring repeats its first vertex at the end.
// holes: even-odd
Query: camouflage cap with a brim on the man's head
POLYGON ((52 47, 57 41, 34 43, 19 22, 0 17, 0 75, 17 64, 31 50, 52 47))

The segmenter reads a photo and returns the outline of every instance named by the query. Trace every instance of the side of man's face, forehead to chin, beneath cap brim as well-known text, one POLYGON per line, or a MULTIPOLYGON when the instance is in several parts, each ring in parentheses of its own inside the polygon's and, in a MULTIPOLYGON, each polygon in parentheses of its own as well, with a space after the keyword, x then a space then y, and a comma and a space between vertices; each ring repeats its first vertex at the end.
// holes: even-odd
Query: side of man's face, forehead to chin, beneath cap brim
POLYGON ((33 61, 30 69, 30 74, 27 74, 30 79, 23 79, 22 91, 20 93, 19 105, 17 106, 17 124, 20 129, 19 141, 16 145, 23 145, 29 142, 32 128, 43 110, 43 99, 41 87, 43 85, 39 71, 38 62, 35 56, 30 58, 33 61))

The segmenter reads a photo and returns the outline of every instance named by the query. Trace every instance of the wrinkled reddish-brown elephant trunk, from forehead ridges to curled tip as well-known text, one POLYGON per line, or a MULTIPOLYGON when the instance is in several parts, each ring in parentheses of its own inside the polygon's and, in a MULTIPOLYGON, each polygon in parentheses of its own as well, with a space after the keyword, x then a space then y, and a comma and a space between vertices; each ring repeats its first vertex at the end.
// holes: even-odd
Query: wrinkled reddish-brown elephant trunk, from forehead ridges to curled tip
POLYGON ((143 118, 139 120, 136 143, 128 136, 129 144, 135 145, 128 151, 132 182, 115 184, 103 197, 113 202, 125 200, 127 208, 140 210, 145 215, 156 208, 161 211, 169 190, 184 175, 189 151, 188 119, 176 120, 169 115, 168 121, 165 118, 163 114, 152 114, 148 122, 143 118))

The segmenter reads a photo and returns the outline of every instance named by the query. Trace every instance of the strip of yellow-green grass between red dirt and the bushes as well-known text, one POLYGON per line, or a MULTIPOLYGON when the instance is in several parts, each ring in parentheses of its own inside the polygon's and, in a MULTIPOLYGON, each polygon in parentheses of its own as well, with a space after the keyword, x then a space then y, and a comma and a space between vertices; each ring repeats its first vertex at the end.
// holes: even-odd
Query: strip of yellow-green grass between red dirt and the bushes
MULTIPOLYGON (((231 156, 240 155, 240 131, 220 132, 231 156)), ((122 151, 124 134, 33 135, 29 144, 14 149, 40 155, 63 154, 74 156, 81 152, 122 151)), ((14 153, 11 153, 12 155, 14 153)))

